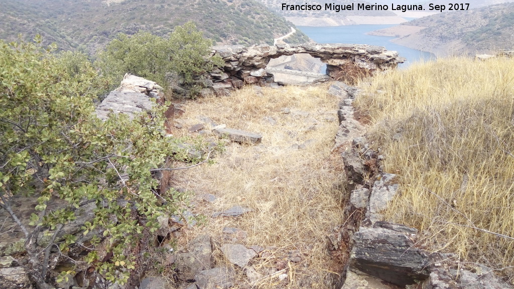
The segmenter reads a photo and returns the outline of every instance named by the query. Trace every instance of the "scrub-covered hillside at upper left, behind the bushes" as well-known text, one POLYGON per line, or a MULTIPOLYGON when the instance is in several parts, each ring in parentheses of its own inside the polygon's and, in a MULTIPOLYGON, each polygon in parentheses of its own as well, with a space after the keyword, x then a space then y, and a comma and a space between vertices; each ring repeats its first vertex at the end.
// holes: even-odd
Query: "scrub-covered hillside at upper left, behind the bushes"
MULTIPOLYGON (((94 52, 119 32, 139 30, 165 35, 176 25, 194 21, 205 37, 218 43, 273 43, 293 24, 253 0, 2 0, 0 38, 15 40, 36 33, 62 49, 94 52)), ((289 42, 307 42, 298 31, 289 42)))

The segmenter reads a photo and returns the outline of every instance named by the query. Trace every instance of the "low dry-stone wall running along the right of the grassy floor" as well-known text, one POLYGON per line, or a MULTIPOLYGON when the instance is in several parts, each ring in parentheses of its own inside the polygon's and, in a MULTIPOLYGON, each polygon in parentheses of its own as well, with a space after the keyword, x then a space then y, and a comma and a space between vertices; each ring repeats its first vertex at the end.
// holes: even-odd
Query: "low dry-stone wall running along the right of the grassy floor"
POLYGON ((333 247, 338 240, 352 245, 341 289, 511 288, 490 268, 477 264, 480 268, 471 272, 448 261, 451 254, 417 248, 416 229, 382 221, 381 213, 399 189, 395 175, 383 172, 383 156, 362 136, 365 130, 351 106, 356 91, 336 82, 328 92, 340 98, 336 148, 342 151, 351 190, 346 210, 353 216, 353 224, 345 222, 339 236, 329 237, 333 247))

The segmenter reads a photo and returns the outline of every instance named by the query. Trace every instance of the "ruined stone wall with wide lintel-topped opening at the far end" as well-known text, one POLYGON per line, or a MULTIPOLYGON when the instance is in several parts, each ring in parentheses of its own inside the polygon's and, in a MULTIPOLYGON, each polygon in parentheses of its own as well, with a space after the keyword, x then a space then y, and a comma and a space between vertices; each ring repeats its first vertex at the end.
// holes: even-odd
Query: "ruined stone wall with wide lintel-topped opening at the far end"
POLYGON ((244 84, 272 82, 272 74, 265 69, 270 59, 296 53, 308 53, 327 64, 327 75, 337 80, 352 82, 355 78, 395 68, 404 58, 396 51, 364 44, 278 44, 273 46, 215 46, 213 55, 225 61, 225 66, 210 73, 216 93, 239 88, 244 84))

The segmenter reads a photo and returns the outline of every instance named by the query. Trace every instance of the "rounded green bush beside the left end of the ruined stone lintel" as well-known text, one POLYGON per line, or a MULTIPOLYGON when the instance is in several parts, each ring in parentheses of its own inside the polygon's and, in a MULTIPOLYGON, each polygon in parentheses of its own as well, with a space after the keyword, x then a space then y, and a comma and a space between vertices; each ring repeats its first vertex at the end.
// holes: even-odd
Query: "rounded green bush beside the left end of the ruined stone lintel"
POLYGON ((169 38, 140 31, 132 36, 120 33, 98 56, 102 73, 114 83, 125 73, 153 80, 168 87, 167 75, 176 73, 184 85, 214 66, 223 65, 219 56, 210 57, 212 41, 196 30, 193 22, 176 26, 169 38))

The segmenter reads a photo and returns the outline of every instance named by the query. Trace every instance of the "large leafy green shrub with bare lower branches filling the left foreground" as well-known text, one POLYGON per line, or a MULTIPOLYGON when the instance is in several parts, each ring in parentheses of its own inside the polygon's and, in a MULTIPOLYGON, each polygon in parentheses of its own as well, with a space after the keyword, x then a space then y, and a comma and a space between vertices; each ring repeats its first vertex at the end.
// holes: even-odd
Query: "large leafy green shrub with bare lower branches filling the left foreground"
POLYGON ((98 93, 95 69, 88 62, 70 68, 51 54, 55 47, 42 49, 41 37, 35 42, 0 41, 0 208, 25 235, 28 263, 19 265, 38 288, 49 288, 51 251, 65 258, 78 240, 63 234, 64 225, 82 205, 94 203, 94 219, 82 229, 102 233, 81 244, 89 250, 85 259, 107 280, 124 283, 135 266, 132 246, 157 230, 160 214, 180 213, 183 195, 158 192, 152 177, 179 151, 180 141, 164 133, 163 107, 134 120, 99 120, 92 101, 98 93), (38 200, 29 225, 11 206, 19 194, 38 200), (50 210, 56 198, 67 205, 50 210))

